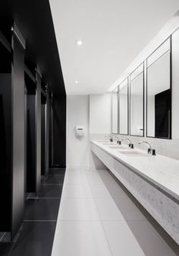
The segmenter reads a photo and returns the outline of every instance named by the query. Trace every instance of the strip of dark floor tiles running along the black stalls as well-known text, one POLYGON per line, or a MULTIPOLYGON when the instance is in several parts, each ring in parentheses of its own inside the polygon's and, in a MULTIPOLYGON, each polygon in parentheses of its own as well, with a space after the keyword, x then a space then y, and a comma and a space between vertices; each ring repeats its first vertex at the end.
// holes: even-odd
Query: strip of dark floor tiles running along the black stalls
MULTIPOLYGON (((42 178, 38 197, 30 194, 24 213, 23 227, 17 241, 0 244, 1 256, 50 256, 61 200, 65 170, 52 169, 42 178)), ((1 235, 1 234, 0 234, 1 235)))

